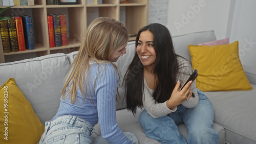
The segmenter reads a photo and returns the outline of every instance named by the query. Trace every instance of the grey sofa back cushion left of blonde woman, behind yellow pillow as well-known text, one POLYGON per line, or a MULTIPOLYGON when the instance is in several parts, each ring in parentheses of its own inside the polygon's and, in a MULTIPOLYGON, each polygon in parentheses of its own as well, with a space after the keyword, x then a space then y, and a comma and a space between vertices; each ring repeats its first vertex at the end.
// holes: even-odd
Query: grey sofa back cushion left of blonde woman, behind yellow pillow
POLYGON ((0 64, 0 83, 14 78, 42 124, 56 114, 70 63, 65 54, 0 64))

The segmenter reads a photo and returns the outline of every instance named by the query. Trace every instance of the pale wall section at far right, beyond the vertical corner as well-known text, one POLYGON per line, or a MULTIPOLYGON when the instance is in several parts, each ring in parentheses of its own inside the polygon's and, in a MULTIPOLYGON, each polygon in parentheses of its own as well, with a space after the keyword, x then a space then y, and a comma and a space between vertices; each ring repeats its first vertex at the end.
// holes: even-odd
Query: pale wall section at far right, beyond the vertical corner
POLYGON ((230 42, 239 41, 239 56, 243 64, 256 68, 256 1, 234 1, 230 42))

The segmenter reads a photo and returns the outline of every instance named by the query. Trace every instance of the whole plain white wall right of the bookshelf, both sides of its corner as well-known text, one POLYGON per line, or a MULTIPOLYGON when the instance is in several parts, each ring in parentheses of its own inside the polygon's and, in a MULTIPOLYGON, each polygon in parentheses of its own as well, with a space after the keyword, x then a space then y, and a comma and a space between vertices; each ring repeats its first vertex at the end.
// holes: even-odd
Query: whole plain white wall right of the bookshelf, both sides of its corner
POLYGON ((165 26, 173 36, 214 30, 217 39, 238 40, 241 62, 256 68, 255 6, 255 0, 170 0, 165 26))

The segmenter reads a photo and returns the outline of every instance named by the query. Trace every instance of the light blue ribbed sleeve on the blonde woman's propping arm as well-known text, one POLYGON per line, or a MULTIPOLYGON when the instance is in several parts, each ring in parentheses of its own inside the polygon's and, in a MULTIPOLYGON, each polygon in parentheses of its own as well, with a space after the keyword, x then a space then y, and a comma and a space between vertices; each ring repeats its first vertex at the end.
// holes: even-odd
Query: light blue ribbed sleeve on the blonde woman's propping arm
POLYGON ((117 71, 111 64, 101 65, 99 71, 101 72, 96 80, 95 94, 101 136, 110 143, 132 143, 122 133, 116 121, 117 71))

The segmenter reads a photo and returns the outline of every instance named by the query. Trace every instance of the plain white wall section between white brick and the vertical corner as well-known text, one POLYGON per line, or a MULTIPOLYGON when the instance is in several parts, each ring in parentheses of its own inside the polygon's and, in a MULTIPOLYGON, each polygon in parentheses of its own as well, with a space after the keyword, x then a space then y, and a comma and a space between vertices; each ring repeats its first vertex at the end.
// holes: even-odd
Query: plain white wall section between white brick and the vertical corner
POLYGON ((170 0, 167 28, 173 36, 214 30, 226 37, 230 0, 170 0))

